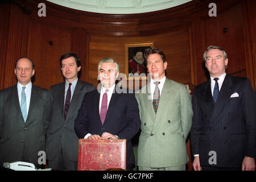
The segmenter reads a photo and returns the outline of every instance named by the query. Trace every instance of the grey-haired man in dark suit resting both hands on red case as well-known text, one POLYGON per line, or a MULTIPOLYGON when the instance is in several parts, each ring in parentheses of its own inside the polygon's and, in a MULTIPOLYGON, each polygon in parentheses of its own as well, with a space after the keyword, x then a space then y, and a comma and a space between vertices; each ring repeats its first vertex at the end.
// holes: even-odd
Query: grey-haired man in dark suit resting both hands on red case
POLYGON ((135 163, 131 138, 141 126, 138 103, 134 93, 115 86, 119 64, 104 58, 98 64, 98 90, 86 93, 75 121, 79 138, 126 139, 126 169, 132 170, 135 163))

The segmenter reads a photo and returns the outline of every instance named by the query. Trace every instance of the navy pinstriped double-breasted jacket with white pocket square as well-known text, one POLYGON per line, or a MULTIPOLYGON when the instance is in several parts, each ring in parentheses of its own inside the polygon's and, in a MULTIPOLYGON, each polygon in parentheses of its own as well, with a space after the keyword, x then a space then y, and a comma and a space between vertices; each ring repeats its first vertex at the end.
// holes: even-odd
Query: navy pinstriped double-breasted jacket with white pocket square
POLYGON ((200 165, 241 167, 245 156, 256 156, 256 98, 250 81, 226 75, 216 104, 210 80, 193 94, 191 144, 200 165), (216 164, 209 158, 216 152, 216 164))

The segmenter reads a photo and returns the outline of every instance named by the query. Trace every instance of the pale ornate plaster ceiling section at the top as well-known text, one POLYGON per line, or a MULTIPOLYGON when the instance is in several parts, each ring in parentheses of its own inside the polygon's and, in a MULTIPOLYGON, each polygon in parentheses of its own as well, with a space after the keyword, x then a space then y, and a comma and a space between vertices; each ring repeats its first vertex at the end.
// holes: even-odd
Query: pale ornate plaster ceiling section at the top
POLYGON ((192 0, 47 0, 75 10, 101 14, 138 14, 164 10, 192 0))

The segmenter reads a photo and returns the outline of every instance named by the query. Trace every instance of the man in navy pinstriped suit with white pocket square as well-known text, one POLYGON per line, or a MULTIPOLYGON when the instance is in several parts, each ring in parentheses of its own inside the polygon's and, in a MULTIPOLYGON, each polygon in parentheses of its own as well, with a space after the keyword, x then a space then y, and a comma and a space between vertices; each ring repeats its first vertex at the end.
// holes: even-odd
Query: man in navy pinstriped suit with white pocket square
POLYGON ((256 97, 250 81, 225 72, 221 47, 204 53, 210 80, 193 94, 191 128, 195 170, 255 170, 256 97))

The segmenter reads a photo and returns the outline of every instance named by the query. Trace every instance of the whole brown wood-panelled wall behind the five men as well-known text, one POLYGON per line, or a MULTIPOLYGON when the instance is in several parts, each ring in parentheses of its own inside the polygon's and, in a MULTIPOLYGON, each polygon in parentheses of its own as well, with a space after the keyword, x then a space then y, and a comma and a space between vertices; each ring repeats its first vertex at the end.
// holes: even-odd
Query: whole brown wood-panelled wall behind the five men
POLYGON ((38 0, 11 2, 0 4, 0 89, 15 84, 14 62, 20 56, 34 61, 34 84, 49 89, 63 81, 60 56, 75 52, 82 62, 81 80, 97 85, 100 59, 112 57, 124 72, 124 44, 154 41, 166 53, 168 78, 192 89, 207 80, 203 52, 216 45, 228 53, 228 73, 250 78, 256 90, 254 0, 195 0, 128 15, 88 13, 40 1, 46 4, 46 17, 38 16, 38 0), (208 15, 212 2, 216 17, 208 15))

